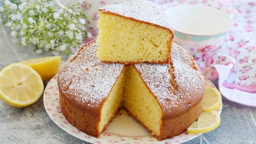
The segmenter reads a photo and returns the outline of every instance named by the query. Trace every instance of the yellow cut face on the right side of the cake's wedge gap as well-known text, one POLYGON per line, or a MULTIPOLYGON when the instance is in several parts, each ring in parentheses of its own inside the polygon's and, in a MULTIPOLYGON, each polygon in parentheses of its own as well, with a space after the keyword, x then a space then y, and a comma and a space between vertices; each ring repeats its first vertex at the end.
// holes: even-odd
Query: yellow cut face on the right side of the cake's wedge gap
POLYGON ((123 107, 153 135, 160 135, 162 110, 134 66, 126 71, 123 107))

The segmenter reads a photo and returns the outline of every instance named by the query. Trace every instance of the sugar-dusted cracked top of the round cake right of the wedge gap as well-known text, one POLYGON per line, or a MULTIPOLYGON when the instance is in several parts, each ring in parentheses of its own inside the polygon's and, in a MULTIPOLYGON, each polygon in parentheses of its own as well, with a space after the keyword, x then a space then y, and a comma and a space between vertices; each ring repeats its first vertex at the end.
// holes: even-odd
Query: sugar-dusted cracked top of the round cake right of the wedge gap
POLYGON ((169 118, 190 109, 202 99, 204 78, 198 68, 193 69, 195 63, 192 59, 191 54, 173 43, 170 64, 135 64, 142 79, 157 97, 169 118), (171 82, 174 83, 175 89, 171 82))

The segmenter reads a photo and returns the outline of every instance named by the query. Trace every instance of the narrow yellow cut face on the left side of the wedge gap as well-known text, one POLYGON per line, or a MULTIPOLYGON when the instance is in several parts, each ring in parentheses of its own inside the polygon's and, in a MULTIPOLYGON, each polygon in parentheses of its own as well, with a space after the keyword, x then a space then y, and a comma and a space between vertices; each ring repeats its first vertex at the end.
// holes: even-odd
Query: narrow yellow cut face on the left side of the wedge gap
POLYGON ((106 128, 112 117, 122 107, 122 96, 125 83, 125 70, 123 69, 109 92, 108 98, 101 109, 99 133, 106 128))

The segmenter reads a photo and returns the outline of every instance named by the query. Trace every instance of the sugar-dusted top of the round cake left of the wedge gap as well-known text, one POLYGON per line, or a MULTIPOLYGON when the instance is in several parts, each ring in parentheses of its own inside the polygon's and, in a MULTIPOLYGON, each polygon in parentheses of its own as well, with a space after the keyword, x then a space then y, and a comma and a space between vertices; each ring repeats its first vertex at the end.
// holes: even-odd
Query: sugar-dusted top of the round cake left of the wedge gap
POLYGON ((60 90, 82 107, 97 108, 124 67, 118 63, 102 63, 96 56, 97 47, 95 40, 83 46, 58 75, 60 90))

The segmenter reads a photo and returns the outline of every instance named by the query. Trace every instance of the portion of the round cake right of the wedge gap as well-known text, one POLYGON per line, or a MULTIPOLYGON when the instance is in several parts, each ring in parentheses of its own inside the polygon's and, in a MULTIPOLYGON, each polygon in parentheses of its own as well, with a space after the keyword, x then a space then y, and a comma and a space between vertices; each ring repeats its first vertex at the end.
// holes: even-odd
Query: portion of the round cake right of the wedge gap
POLYGON ((173 43, 170 63, 127 67, 123 107, 158 140, 185 132, 197 120, 204 78, 190 53, 173 43))

